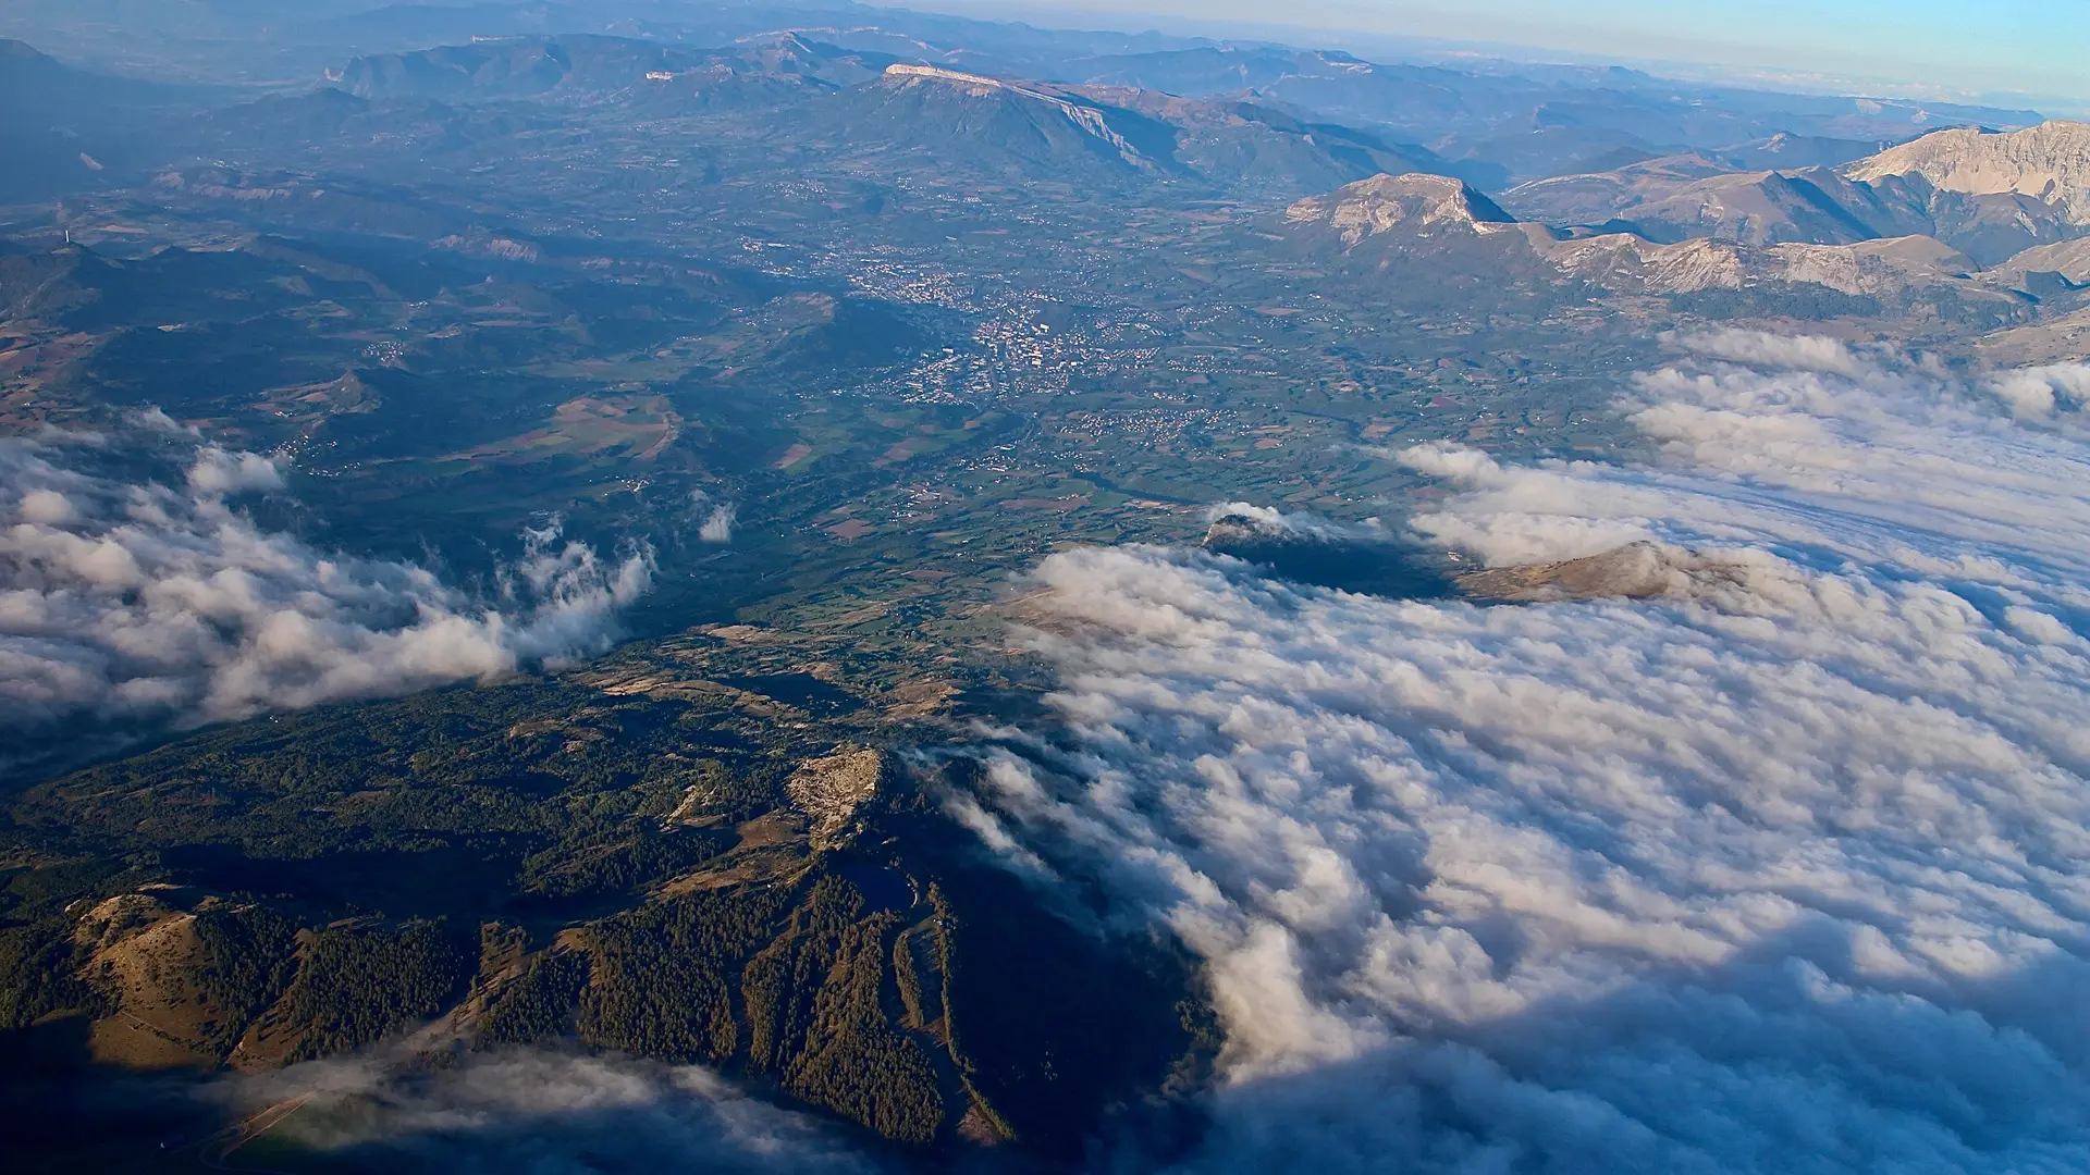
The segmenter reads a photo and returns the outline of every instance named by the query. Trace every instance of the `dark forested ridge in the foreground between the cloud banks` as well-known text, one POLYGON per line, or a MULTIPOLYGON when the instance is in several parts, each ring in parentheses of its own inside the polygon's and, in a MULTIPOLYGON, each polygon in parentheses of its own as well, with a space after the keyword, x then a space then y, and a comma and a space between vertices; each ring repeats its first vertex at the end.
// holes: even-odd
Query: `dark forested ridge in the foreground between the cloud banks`
POLYGON ((196 1010, 146 1016, 203 1066, 604 1050, 899 1144, 970 1116, 1060 1154, 1208 1047, 1181 951, 1047 909, 940 815, 932 774, 884 757, 853 832, 815 847, 784 784, 846 736, 516 682, 40 784, 4 807, 0 1027, 125 1014, 142 997, 111 960, 176 926, 148 970, 196 1010))

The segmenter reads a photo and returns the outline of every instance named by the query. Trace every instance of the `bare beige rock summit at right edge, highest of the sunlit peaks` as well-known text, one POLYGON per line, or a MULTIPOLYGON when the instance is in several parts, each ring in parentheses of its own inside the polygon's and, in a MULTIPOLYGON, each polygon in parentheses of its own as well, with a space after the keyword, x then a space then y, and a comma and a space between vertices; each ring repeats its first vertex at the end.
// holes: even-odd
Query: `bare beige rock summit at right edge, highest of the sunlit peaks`
POLYGON ((2090 224, 2090 123, 2048 121, 1996 134, 1942 130, 1843 167, 1852 180, 1923 176, 1948 192, 2019 194, 2090 224))

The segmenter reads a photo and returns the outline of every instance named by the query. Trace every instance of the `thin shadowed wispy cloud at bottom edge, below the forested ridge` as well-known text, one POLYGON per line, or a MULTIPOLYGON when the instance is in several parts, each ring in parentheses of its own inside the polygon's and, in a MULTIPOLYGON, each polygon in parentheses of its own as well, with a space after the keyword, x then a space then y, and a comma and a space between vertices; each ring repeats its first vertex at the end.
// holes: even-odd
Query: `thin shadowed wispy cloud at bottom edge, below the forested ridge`
MULTIPOLYGON (((441 1068, 322 1060, 217 1089, 238 1112, 299 1102, 270 1131, 349 1169, 872 1173, 823 1123, 694 1066, 543 1052, 441 1068)), ((234 1162, 236 1165, 236 1162, 234 1162)))

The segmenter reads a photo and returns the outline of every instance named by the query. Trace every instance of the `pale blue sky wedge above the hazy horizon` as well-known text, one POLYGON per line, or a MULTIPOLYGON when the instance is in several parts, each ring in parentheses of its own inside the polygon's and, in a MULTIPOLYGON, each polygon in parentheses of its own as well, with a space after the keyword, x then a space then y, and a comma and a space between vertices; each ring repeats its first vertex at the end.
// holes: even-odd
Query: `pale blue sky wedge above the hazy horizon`
MULTIPOLYGON (((878 0, 874 0, 878 2, 878 0)), ((895 2, 895 0, 886 0, 895 2)), ((1264 23, 2090 105, 2090 0, 899 0, 1087 27, 1264 23)), ((1187 31, 1187 29, 1185 29, 1187 31)))

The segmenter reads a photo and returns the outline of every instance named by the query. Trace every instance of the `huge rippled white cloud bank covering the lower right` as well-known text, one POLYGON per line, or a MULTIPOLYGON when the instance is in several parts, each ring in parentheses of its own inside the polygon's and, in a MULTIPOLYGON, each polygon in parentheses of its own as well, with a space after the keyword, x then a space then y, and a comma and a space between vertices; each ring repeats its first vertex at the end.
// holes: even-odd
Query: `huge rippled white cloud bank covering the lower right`
POLYGON ((1185 1169, 2090 1169, 2090 443, 1835 347, 1636 381, 1641 466, 1402 454, 1432 542, 1718 598, 1041 565, 1064 723, 966 815, 1208 962, 1185 1169))

